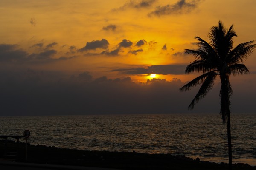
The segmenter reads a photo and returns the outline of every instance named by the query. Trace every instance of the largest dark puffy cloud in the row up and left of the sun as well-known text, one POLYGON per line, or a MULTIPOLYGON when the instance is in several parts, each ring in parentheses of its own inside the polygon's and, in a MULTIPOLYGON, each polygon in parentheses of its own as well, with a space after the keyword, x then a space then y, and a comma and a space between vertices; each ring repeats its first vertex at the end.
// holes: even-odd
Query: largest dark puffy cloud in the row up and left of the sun
POLYGON ((83 48, 80 48, 78 51, 82 52, 87 50, 95 50, 97 48, 107 49, 108 45, 109 43, 106 39, 95 40, 92 42, 87 42, 86 45, 83 48))

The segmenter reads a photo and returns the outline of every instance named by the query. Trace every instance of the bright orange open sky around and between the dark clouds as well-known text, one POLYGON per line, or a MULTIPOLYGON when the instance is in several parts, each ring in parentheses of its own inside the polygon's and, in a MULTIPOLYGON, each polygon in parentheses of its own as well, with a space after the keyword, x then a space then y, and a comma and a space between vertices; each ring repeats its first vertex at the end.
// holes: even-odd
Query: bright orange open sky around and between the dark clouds
MULTIPOLYGON (((72 61, 29 65, 30 68, 70 73, 83 70, 96 77, 119 77, 118 72, 108 71, 133 65, 186 65, 192 58, 184 57, 183 50, 196 48, 191 44, 195 42, 195 36, 207 40, 209 28, 218 20, 227 27, 235 25, 239 35, 236 44, 256 37, 256 14, 251 12, 256 8, 254 0, 9 0, 1 1, 0 5, 0 43, 17 44, 18 48, 31 54, 43 52, 46 45, 55 42, 56 45, 48 48, 56 50, 50 57, 76 56, 70 59, 72 61), (160 7, 168 9, 162 9, 160 13, 160 7), (102 38, 108 41, 108 48, 77 52, 87 42, 102 38), (109 52, 116 50, 123 39, 132 45, 120 48, 115 56, 100 54, 106 49, 109 52), (139 40, 145 40, 145 44, 136 46, 139 40), (43 45, 32 47, 39 43, 43 45), (162 50, 164 45, 166 50, 162 50), (74 47, 72 51, 71 46, 74 47)), ((249 60, 255 61, 253 58, 249 60)), ((250 65, 254 70, 253 67, 250 65)), ((135 75, 130 76, 137 79, 135 75)), ((168 79, 168 76, 163 78, 168 79)))

